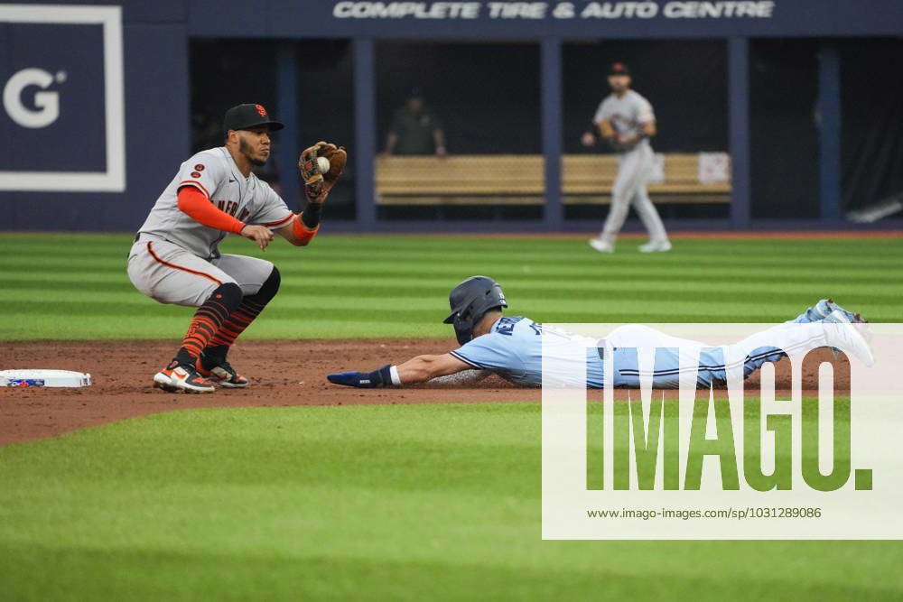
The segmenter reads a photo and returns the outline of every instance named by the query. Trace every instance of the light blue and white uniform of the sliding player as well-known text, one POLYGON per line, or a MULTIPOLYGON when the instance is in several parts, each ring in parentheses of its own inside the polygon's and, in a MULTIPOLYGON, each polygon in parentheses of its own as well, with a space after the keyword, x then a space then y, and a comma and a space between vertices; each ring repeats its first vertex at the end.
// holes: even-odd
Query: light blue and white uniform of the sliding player
MULTIPOLYGON (((820 318, 810 308, 796 320, 756 335, 754 340, 766 344, 750 347, 749 351, 740 356, 744 378, 766 362, 775 362, 787 356, 785 351, 817 347, 822 337, 821 330, 794 328, 793 325, 815 323, 820 321, 820 318)), ((604 342, 590 340, 561 329, 551 330, 523 316, 499 318, 487 334, 474 338, 451 353, 465 364, 491 370, 511 383, 539 387, 543 384, 544 328, 550 331, 550 334, 554 334, 554 337, 548 338, 552 341, 552 345, 589 347, 586 353, 586 384, 591 389, 602 388, 604 351, 600 351, 597 344, 604 347, 604 342)), ((638 324, 613 330, 608 340, 614 366, 612 377, 614 386, 639 386, 637 347, 641 345, 656 347, 652 372, 652 384, 656 388, 676 388, 679 385, 680 374, 688 369, 696 373, 697 386, 722 383, 727 378, 728 366, 725 366, 724 349, 721 347, 707 347, 696 341, 669 337, 638 324)), ((547 352, 557 355, 554 348, 548 349, 547 352)))

